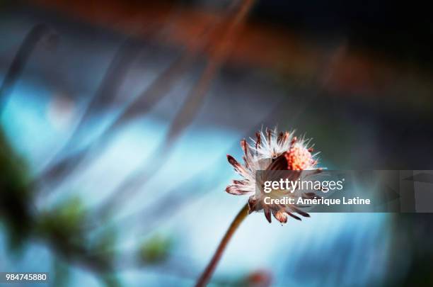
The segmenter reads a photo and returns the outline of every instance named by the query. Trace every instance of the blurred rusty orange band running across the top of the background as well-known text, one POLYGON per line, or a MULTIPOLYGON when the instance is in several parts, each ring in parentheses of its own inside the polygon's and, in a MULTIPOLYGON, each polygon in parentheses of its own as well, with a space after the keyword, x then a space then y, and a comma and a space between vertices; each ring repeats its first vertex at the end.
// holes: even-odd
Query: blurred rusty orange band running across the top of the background
MULTIPOLYGON (((163 45, 187 47, 209 57, 215 57, 214 47, 221 45, 220 33, 200 37, 203 27, 224 22, 224 13, 217 11, 164 2, 77 0, 73 5, 69 1, 56 0, 33 2, 81 21, 127 35, 150 37, 163 45)), ((343 40, 332 49, 326 49, 277 26, 252 22, 240 25, 242 33, 231 40, 230 51, 224 52, 226 62, 230 64, 312 79, 313 84, 325 91, 339 94, 395 96, 398 91, 399 101, 413 102, 416 89, 418 107, 425 106, 433 90, 431 71, 381 55, 348 50, 343 40), (412 96, 405 97, 406 94, 412 96)))

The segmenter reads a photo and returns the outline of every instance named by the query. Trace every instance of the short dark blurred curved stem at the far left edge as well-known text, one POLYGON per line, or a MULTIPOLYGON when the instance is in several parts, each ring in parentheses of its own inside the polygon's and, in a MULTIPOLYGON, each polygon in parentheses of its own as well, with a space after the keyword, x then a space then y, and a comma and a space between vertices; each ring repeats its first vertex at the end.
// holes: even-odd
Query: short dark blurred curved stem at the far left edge
POLYGON ((18 52, 9 66, 8 71, 4 77, 3 83, 0 86, 0 114, 3 113, 4 106, 7 102, 9 94, 13 90, 13 86, 19 79, 25 68, 25 64, 28 62, 30 55, 35 50, 37 43, 45 38, 46 36, 54 35, 53 31, 45 24, 37 24, 25 35, 23 43, 21 43, 18 52))

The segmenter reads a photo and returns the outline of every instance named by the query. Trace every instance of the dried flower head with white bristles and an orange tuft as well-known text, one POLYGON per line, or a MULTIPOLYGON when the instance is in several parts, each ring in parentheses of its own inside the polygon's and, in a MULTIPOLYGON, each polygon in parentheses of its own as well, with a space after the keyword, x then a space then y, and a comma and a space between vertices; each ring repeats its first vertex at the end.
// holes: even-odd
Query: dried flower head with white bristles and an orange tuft
MULTIPOLYGON (((278 171, 278 170, 293 170, 299 171, 297 176, 308 176, 321 171, 317 167, 317 153, 312 154, 313 148, 308 147, 310 140, 303 138, 298 139, 293 136, 293 133, 284 132, 277 133, 277 128, 274 130, 260 131, 255 134, 256 140, 251 139, 251 143, 246 140, 241 140, 243 150, 243 162, 240 164, 234 157, 227 154, 229 163, 233 165, 235 171, 242 176, 241 180, 233 180, 233 184, 227 186, 226 191, 234 195, 249 195, 248 206, 250 213, 253 211, 263 210, 267 221, 271 222, 271 213, 280 223, 287 222, 287 215, 301 220, 294 213, 298 213, 304 217, 309 217, 299 206, 296 205, 275 205, 265 204, 262 201, 262 193, 256 194, 256 171, 278 171), (303 171, 313 171, 312 173, 304 173, 303 171), (258 196, 260 198, 258 198, 258 196)), ((292 179, 293 180, 293 179, 292 179)), ((287 195, 282 193, 280 196, 287 195)), ((304 198, 313 198, 316 196, 313 192, 301 194, 304 198)))

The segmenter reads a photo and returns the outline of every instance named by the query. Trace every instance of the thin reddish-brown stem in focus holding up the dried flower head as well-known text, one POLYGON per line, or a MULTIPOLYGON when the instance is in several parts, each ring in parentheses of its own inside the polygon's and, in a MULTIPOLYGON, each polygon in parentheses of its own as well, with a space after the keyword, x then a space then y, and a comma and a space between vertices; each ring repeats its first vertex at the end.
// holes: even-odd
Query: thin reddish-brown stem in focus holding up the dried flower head
POLYGON ((217 267, 217 264, 219 262, 219 259, 221 259, 221 256, 224 252, 224 249, 226 249, 227 244, 229 243, 231 237, 233 236, 234 232, 238 229, 239 225, 243 222, 243 220, 248 215, 248 203, 243 206, 243 208, 239 211, 238 215, 236 215, 236 218, 233 219, 231 222, 231 225, 229 229, 226 231, 226 234, 224 235, 221 242, 219 242, 219 246, 217 248, 217 251, 214 253, 214 257, 212 257, 212 260, 207 265, 206 269, 204 269, 202 276, 200 276, 199 280, 195 284, 195 287, 204 287, 206 286, 207 282, 211 278, 212 274, 215 271, 215 268, 217 267))

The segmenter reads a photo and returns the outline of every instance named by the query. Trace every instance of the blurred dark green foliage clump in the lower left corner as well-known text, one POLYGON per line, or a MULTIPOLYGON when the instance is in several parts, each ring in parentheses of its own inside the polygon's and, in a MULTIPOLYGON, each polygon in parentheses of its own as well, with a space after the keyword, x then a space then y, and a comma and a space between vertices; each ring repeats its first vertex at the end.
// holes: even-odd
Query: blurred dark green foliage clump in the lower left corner
MULTIPOLYGON (((37 210, 35 196, 27 164, 18 157, 0 127, 0 221, 6 227, 9 249, 19 255, 30 238, 42 240, 56 252, 55 262, 66 259, 64 262, 83 264, 98 274, 105 285, 119 286, 112 272, 115 230, 105 229, 91 237, 92 230, 87 227, 90 212, 79 197, 37 210)), ((68 267, 57 263, 53 267, 56 282, 66 286, 68 267)))

